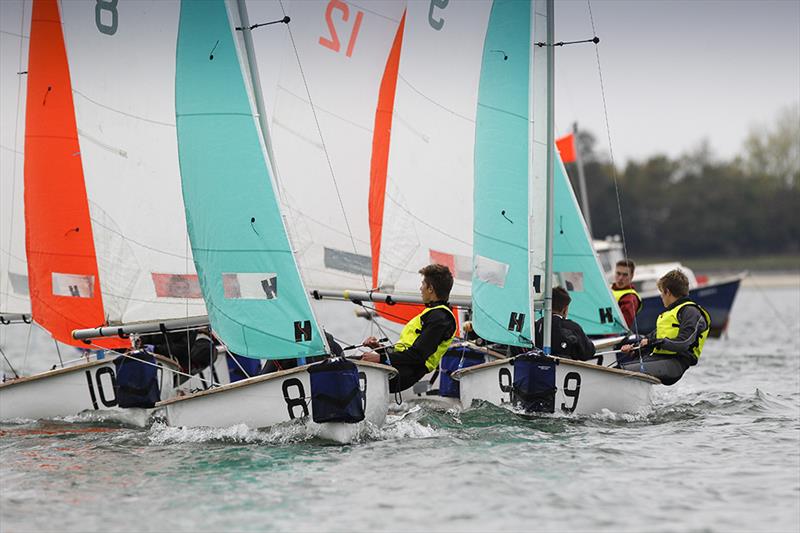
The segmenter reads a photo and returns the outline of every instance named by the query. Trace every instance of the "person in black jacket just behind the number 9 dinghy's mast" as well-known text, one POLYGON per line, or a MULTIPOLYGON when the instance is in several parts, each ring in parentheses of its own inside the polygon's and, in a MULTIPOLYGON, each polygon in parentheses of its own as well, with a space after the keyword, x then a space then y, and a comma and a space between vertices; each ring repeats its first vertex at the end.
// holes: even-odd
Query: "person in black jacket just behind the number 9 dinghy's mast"
MULTIPOLYGON (((594 357, 594 343, 577 322, 567 318, 572 298, 563 287, 553 289, 553 323, 550 344, 553 355, 586 361, 594 357)), ((536 346, 544 344, 544 319, 536 321, 534 330, 536 346)))

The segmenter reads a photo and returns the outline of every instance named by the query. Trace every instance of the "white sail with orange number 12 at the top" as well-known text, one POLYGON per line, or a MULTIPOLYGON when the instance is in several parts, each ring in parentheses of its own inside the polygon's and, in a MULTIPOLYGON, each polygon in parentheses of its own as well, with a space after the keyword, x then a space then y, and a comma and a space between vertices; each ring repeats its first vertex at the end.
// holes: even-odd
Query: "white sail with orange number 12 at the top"
MULTIPOLYGON (((253 30, 279 195, 309 288, 371 287, 375 109, 404 4, 284 2, 288 28, 253 30)), ((284 16, 278 3, 247 10, 251 25, 284 16)))

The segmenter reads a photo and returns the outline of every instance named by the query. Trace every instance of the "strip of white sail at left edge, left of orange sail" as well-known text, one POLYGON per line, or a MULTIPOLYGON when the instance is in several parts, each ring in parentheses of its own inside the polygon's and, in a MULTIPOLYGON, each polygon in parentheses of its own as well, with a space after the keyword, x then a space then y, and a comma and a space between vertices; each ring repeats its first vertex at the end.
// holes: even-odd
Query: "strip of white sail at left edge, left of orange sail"
POLYGON ((22 206, 31 3, 0 2, 0 313, 30 313, 22 206))

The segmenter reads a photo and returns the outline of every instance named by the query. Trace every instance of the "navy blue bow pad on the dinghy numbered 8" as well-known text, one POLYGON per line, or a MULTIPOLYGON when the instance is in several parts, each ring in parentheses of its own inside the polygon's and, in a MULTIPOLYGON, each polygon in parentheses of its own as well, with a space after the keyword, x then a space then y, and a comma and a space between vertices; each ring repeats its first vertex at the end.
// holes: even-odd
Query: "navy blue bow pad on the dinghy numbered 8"
POLYGON ((343 358, 326 359, 308 368, 311 375, 311 414, 314 422, 364 420, 364 395, 358 367, 343 358))

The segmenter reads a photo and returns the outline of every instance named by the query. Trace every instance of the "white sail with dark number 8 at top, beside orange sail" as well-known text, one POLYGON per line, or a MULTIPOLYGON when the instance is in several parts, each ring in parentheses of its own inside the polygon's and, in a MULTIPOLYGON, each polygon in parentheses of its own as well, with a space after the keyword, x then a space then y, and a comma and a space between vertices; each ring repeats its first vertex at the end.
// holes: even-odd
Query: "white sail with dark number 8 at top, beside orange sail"
POLYGON ((61 9, 108 320, 204 315, 175 134, 179 4, 76 0, 61 9))

